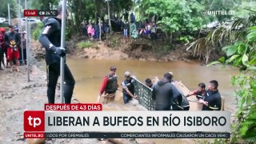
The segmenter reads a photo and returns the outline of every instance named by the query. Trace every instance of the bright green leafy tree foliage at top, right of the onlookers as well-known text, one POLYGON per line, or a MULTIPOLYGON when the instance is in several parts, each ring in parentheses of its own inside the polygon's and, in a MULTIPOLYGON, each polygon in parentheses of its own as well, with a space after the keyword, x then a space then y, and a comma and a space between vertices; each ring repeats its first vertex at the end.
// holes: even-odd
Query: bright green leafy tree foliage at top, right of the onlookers
POLYGON ((158 25, 170 36, 175 32, 193 32, 203 24, 204 6, 195 0, 145 0, 141 2, 141 6, 146 15, 158 16, 158 25))

